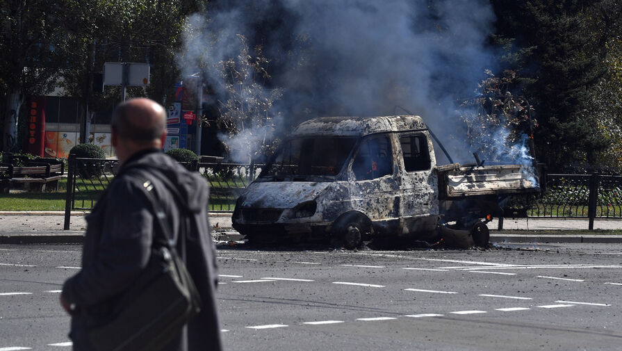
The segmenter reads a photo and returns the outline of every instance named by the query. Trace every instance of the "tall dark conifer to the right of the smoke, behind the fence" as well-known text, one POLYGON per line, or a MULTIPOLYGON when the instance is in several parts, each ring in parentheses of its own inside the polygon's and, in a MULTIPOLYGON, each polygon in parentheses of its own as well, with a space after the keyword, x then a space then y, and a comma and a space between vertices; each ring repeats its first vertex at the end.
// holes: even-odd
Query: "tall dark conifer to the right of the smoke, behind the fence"
POLYGON ((610 140, 594 118, 596 86, 607 74, 607 43, 620 27, 610 17, 619 1, 493 0, 496 42, 507 68, 522 78, 523 95, 538 111, 537 155, 551 169, 596 165, 610 140))

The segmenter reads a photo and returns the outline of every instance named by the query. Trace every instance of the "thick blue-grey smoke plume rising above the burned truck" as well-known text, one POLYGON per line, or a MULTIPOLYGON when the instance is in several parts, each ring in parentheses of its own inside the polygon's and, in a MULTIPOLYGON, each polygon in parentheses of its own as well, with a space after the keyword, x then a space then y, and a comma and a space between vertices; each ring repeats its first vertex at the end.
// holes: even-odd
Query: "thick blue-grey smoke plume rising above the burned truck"
POLYGON ((497 68, 486 44, 494 20, 486 0, 215 1, 186 24, 179 63, 186 74, 204 72, 226 99, 219 63, 240 55, 244 35, 271 60, 272 79, 258 80, 265 91, 283 90, 272 111, 282 117, 277 134, 311 117, 394 115, 404 106, 453 161, 473 162, 459 99, 497 68))

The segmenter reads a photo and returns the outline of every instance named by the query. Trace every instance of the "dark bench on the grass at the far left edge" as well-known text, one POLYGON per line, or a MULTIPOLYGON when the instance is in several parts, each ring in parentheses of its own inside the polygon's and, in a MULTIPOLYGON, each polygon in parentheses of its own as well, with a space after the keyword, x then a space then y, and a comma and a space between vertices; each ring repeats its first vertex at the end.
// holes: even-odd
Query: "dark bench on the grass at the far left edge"
POLYGON ((22 160, 24 165, 0 164, 0 193, 8 193, 17 184, 28 184, 31 191, 58 190, 65 166, 54 158, 22 160))

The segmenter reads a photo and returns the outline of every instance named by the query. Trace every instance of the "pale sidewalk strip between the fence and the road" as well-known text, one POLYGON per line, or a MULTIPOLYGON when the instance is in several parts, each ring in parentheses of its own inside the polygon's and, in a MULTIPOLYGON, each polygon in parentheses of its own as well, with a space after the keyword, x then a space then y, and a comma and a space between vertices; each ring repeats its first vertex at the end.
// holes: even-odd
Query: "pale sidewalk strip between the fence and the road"
MULTIPOLYGON (((86 228, 84 216, 83 212, 72 212, 69 230, 65 231, 63 211, 0 211, 0 244, 81 243, 86 228)), ((231 213, 210 213, 210 224, 218 240, 241 238, 231 228, 231 213)), ((505 218, 502 231, 496 230, 497 220, 489 222, 488 227, 491 229, 491 242, 496 243, 622 243, 622 235, 585 234, 587 218, 505 218), (559 231, 559 234, 551 234, 550 231, 559 231)), ((622 219, 596 219, 594 229, 622 230, 622 219)))

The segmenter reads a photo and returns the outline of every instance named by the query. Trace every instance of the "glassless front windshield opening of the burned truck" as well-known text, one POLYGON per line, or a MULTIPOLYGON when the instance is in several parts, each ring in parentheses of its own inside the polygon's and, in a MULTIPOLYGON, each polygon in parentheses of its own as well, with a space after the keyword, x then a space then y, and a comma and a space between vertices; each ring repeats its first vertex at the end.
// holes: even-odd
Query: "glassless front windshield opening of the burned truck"
POLYGON ((335 180, 347 168, 359 137, 300 136, 284 140, 259 181, 335 180))

